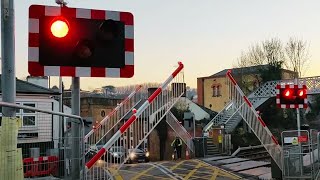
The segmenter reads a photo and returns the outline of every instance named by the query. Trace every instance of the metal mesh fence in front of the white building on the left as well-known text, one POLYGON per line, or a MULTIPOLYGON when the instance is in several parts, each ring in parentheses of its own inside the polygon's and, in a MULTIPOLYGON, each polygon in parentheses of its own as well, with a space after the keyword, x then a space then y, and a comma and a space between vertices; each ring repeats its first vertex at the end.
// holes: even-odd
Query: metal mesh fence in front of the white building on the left
POLYGON ((0 109, 16 109, 16 118, 1 114, 0 179, 83 178, 83 121, 79 116, 52 111, 59 109, 58 104, 49 98, 0 102, 0 109), (72 136, 74 130, 80 137, 72 136))

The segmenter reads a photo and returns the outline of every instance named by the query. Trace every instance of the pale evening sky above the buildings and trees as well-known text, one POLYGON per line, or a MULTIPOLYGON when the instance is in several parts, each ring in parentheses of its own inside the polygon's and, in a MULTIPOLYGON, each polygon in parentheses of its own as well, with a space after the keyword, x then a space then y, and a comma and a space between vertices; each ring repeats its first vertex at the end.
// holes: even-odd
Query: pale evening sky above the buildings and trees
MULTIPOLYGON (((16 75, 26 77, 28 7, 54 0, 15 0, 16 75)), ((320 75, 319 0, 69 0, 69 7, 129 11, 135 22, 135 76, 131 79, 81 78, 81 88, 163 82, 185 64, 188 86, 197 77, 232 67, 251 44, 298 37, 310 45, 306 76, 320 75)), ((52 78, 57 83, 58 78, 52 78)), ((67 87, 71 78, 64 78, 67 87)))

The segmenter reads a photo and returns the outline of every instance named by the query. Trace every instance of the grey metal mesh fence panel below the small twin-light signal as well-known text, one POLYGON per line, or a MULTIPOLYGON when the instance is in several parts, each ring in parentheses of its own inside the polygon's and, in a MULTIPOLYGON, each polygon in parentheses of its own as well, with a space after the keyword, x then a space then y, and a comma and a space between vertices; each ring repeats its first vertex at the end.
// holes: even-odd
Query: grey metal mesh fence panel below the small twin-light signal
POLYGON ((281 137, 283 178, 314 179, 319 170, 318 131, 284 131, 281 137))

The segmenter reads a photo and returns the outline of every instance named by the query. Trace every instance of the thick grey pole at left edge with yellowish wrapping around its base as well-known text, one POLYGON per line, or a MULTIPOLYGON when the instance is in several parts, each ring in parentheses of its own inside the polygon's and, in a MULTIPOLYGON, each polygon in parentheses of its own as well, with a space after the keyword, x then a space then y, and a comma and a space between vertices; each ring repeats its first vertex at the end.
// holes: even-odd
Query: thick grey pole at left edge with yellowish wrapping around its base
MULTIPOLYGON (((14 42, 14 0, 1 0, 1 88, 2 101, 16 102, 15 42, 14 42)), ((0 179, 23 179, 22 154, 17 151, 18 125, 15 108, 2 107, 0 142, 0 179), (14 119, 10 119, 14 118, 14 119)))

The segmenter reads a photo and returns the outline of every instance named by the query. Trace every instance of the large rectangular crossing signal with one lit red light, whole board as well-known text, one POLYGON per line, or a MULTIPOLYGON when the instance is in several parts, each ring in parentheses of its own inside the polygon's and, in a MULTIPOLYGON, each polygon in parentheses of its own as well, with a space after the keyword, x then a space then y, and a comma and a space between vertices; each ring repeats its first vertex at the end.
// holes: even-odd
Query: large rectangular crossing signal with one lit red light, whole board
POLYGON ((134 75, 129 12, 31 5, 28 70, 32 76, 134 75))

